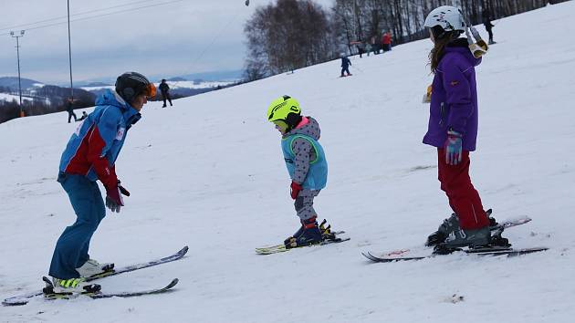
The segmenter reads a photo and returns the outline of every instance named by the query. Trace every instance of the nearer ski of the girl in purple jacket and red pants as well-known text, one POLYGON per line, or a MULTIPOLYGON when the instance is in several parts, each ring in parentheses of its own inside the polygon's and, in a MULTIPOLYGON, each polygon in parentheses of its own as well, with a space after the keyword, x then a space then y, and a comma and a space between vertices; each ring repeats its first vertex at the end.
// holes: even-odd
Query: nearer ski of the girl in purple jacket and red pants
MULTIPOLYGON (((528 255, 532 253, 538 253, 541 251, 549 250, 548 247, 533 247, 533 248, 521 248, 521 249, 514 249, 514 248, 503 248, 503 247, 484 247, 484 248, 477 248, 477 249, 465 249, 461 251, 456 251, 449 255, 459 255, 461 253, 465 255, 507 255, 507 256, 517 256, 517 255, 528 255)), ((429 259, 434 258, 436 256, 442 255, 417 255, 417 256, 407 256, 407 255, 382 255, 377 256, 371 254, 371 252, 363 252, 361 255, 365 256, 366 258, 370 259, 372 262, 375 263, 392 263, 397 261, 408 261, 408 260, 422 260, 422 259, 429 259)))

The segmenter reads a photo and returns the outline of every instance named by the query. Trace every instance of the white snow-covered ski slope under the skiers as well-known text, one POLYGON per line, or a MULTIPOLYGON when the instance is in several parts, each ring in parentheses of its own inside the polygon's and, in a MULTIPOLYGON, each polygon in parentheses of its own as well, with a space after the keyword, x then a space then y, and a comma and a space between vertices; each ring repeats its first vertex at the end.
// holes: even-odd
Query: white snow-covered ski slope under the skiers
MULTIPOLYGON (((527 214, 506 236, 544 253, 448 255, 371 264, 361 251, 422 245, 450 214, 434 148, 421 143, 429 40, 297 70, 162 109, 131 129, 117 172, 131 191, 108 214, 90 255, 118 266, 190 245, 168 265, 100 281, 161 296, 0 307, 3 322, 572 322, 575 316, 575 2, 502 20, 477 68, 480 129, 472 178, 498 219, 527 214), (567 35, 567 36, 565 36, 567 35), (267 104, 297 98, 319 120, 329 184, 320 217, 351 240, 256 255, 298 227, 267 104), (454 297, 455 295, 455 297, 454 297), (464 297, 458 301, 459 296, 464 297)), ((482 32, 485 33, 483 29, 482 32)), ((484 34, 485 35, 485 34, 484 34)), ((0 298, 41 287, 54 244, 75 215, 56 182, 74 130, 66 114, 0 124, 0 298)))

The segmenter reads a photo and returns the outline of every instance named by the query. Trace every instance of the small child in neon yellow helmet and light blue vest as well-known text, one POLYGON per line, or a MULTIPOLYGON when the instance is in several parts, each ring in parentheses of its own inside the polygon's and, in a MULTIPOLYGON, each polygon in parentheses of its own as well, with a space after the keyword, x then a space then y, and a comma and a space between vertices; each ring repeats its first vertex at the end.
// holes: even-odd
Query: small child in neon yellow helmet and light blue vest
POLYGON ((287 248, 314 245, 333 238, 319 227, 313 199, 328 181, 328 162, 319 144, 319 124, 311 117, 302 117, 296 99, 283 96, 267 109, 267 120, 282 134, 281 148, 291 177, 290 195, 295 200, 301 227, 284 244, 287 248))

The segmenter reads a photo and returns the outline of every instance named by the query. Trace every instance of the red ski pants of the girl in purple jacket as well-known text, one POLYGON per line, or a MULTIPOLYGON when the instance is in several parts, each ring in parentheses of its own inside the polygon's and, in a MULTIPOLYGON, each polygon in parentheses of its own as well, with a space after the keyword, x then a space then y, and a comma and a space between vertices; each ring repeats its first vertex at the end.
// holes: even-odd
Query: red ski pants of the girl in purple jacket
POLYGON ((469 178, 469 151, 463 151, 461 162, 449 165, 445 162, 445 150, 437 149, 439 182, 447 194, 449 205, 459 217, 462 229, 478 229, 489 225, 481 198, 469 178))

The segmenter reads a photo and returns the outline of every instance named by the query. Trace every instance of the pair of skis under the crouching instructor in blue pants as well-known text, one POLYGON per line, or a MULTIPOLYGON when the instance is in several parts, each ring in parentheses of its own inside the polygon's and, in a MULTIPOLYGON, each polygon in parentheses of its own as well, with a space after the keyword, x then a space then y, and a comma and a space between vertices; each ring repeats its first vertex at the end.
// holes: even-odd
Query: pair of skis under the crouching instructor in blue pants
MULTIPOLYGON (((101 274, 98 275, 94 275, 94 276, 89 276, 86 281, 94 281, 97 279, 101 279, 104 277, 109 277, 109 276, 116 276, 116 275, 120 275, 123 273, 127 273, 127 272, 131 272, 131 271, 135 271, 135 270, 140 270, 143 268, 147 268, 150 266, 158 266, 158 265, 162 265, 165 263, 170 263, 179 259, 182 259, 183 256, 185 254, 187 254, 189 248, 188 246, 184 246, 180 251, 176 252, 173 255, 168 255, 162 258, 158 258, 152 261, 147 261, 147 262, 143 262, 143 263, 139 263, 139 264, 134 264, 134 265, 130 265, 130 266, 123 266, 120 268, 114 268, 111 269, 109 271, 105 271, 101 274)), ((48 279, 47 277, 43 277, 42 278, 44 280, 44 282, 47 285, 47 290, 49 290, 50 287, 52 287, 52 282, 50 281, 50 279, 48 279)), ((151 294, 160 294, 160 293, 165 293, 169 290, 171 290, 174 286, 176 286, 176 284, 178 284, 178 278, 174 278, 168 285, 166 285, 165 287, 160 287, 160 288, 153 288, 153 289, 148 289, 148 290, 141 290, 141 291, 131 291, 131 292, 120 292, 120 293, 101 293, 101 292, 93 292, 93 293, 83 293, 83 294, 62 294, 62 293, 45 293, 43 290, 40 291, 36 291, 36 292, 31 292, 31 293, 27 293, 27 294, 23 294, 23 295, 19 295, 16 297, 8 297, 6 298, 3 302, 2 305, 4 306, 19 306, 19 305, 26 305, 30 299, 34 298, 34 297, 39 297, 42 295, 45 295, 48 299, 56 299, 56 298, 72 298, 72 297, 78 297, 78 295, 85 295, 91 298, 109 298, 109 297, 139 297, 142 295, 151 295, 151 294)))

